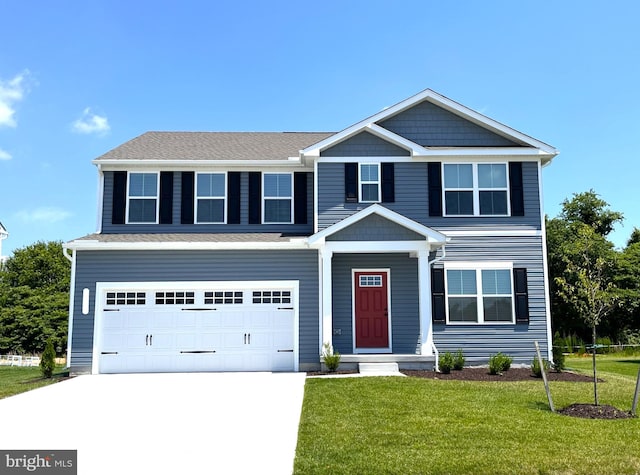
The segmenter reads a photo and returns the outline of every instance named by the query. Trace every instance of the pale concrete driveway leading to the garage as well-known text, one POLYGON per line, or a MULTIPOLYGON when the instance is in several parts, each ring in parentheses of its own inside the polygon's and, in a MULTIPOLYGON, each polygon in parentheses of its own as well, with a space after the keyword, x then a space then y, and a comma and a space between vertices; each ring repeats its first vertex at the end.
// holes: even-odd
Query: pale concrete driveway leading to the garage
POLYGON ((79 474, 288 474, 304 373, 79 376, 0 400, 0 449, 78 450, 79 474))

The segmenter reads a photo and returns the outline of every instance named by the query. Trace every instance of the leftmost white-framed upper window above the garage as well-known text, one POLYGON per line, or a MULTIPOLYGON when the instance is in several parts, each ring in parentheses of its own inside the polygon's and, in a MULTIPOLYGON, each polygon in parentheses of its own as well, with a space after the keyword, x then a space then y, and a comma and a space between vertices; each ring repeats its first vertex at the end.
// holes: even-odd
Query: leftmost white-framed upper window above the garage
POLYGON ((157 224, 160 180, 158 173, 129 173, 127 223, 157 224))

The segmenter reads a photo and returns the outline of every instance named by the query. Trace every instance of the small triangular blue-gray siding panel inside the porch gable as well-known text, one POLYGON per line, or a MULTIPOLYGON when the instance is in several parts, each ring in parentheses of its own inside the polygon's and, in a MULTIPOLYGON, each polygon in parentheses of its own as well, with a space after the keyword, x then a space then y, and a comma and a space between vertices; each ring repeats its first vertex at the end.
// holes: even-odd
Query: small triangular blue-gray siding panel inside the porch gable
POLYGON ((372 214, 327 236, 327 241, 424 241, 425 237, 393 223, 382 216, 372 214))

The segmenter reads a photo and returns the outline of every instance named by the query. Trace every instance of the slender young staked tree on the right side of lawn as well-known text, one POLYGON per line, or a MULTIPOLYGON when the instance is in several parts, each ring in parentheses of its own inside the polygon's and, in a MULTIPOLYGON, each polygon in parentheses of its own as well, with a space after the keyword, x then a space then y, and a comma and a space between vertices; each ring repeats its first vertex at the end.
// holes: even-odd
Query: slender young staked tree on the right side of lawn
POLYGON ((556 277, 561 297, 573 305, 591 328, 593 342, 593 394, 598 401, 596 370, 596 327, 611 313, 617 302, 611 279, 615 253, 603 255, 606 239, 584 223, 574 223, 576 240, 565 257, 566 272, 556 277), (605 241, 605 243, 603 243, 605 241))

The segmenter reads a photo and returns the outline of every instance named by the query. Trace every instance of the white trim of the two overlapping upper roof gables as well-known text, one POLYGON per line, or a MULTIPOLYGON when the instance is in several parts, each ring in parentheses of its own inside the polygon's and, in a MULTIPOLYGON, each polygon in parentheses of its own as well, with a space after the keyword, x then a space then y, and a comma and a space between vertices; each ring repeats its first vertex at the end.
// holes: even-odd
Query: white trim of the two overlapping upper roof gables
MULTIPOLYGON (((498 121, 495 121, 479 112, 474 111, 462 104, 459 104, 431 89, 425 89, 424 91, 405 99, 397 103, 394 106, 388 107, 377 114, 374 114, 356 124, 347 127, 346 129, 334 134, 321 142, 315 143, 306 149, 301 151, 303 156, 309 157, 317 157, 320 155, 320 152, 328 147, 331 147, 343 140, 346 140, 349 137, 352 137, 355 134, 360 133, 363 130, 367 130, 378 135, 381 138, 386 138, 390 142, 399 145, 401 147, 407 148, 411 151, 414 156, 430 156, 430 155, 443 155, 446 152, 443 151, 443 147, 422 147, 418 144, 414 144, 406 138, 400 137, 399 135, 391 132, 390 130, 385 129, 380 125, 384 120, 390 119, 391 117, 410 109, 413 106, 416 106, 424 101, 428 101, 432 104, 445 109, 469 122, 476 124, 482 128, 485 128, 501 137, 508 139, 515 144, 519 144, 524 150, 519 151, 518 153, 532 153, 532 149, 536 151, 536 154, 541 155, 543 161, 549 161, 554 156, 558 154, 558 151, 549 144, 546 144, 540 140, 537 140, 533 137, 530 137, 522 132, 519 132, 511 127, 508 127, 504 124, 501 124, 498 121)), ((503 147, 504 148, 504 147, 503 147)), ((508 152, 513 153, 514 148, 509 148, 508 152)))

